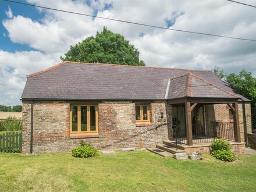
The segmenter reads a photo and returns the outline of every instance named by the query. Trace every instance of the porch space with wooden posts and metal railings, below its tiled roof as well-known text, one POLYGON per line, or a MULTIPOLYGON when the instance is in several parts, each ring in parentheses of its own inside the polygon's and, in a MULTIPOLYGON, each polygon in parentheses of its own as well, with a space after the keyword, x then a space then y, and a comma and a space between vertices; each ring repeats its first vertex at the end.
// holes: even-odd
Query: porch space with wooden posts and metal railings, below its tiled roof
POLYGON ((209 144, 215 138, 241 143, 237 99, 183 98, 170 100, 168 104, 172 105, 170 140, 175 141, 176 144, 189 146, 209 144), (206 118, 212 114, 205 111, 205 108, 215 104, 227 106, 228 120, 206 118))

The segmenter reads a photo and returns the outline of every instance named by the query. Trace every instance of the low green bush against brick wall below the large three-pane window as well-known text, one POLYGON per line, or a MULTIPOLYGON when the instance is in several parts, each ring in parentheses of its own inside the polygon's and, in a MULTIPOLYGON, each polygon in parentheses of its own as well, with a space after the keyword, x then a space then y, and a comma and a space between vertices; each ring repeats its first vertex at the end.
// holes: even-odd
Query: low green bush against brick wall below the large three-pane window
POLYGON ((94 157, 97 155, 98 155, 98 150, 94 147, 91 147, 91 145, 87 143, 81 143, 79 147, 76 147, 72 150, 73 157, 87 158, 87 157, 94 157))

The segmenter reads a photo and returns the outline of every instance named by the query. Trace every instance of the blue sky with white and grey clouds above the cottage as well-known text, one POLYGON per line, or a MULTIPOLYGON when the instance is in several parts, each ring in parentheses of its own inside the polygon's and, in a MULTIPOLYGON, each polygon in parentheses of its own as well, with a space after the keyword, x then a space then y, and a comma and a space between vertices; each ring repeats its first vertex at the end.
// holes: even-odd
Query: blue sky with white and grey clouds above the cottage
MULTIPOLYGON (((242 0, 240 0, 242 1, 242 0)), ((256 9, 226 0, 27 0, 88 15, 256 39, 256 9)), ((244 3, 256 5, 254 0, 244 3)), ((26 76, 61 62, 60 56, 106 26, 140 51, 146 66, 256 74, 256 42, 209 37, 72 15, 0 0, 0 105, 19 105, 26 76)))

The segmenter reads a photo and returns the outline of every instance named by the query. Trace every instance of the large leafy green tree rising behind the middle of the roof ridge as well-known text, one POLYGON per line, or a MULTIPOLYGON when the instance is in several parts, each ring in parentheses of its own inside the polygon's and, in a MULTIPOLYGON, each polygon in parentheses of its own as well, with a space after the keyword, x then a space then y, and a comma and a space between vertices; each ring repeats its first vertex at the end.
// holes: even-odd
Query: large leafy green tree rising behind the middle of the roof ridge
POLYGON ((62 61, 88 63, 115 63, 120 65, 141 65, 140 52, 120 34, 104 27, 103 31, 74 46, 70 46, 62 61))

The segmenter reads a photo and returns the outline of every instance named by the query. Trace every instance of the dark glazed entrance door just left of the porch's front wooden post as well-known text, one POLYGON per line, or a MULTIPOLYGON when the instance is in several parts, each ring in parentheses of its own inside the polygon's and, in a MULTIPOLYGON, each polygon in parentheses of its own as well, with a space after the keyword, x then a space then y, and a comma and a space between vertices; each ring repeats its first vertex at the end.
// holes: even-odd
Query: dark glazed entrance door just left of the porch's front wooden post
POLYGON ((177 137, 186 137, 186 117, 184 106, 173 106, 172 107, 172 125, 173 128, 177 128, 177 137))

